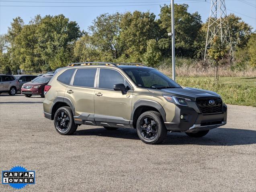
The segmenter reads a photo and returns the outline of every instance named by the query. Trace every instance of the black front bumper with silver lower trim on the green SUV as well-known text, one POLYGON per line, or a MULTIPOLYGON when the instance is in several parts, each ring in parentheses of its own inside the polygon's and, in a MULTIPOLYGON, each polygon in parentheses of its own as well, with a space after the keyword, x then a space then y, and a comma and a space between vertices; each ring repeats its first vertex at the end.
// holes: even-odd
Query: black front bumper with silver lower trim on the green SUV
POLYGON ((227 122, 227 106, 223 104, 223 112, 203 115, 197 109, 176 106, 172 122, 164 122, 166 129, 178 132, 199 132, 223 126, 227 122))

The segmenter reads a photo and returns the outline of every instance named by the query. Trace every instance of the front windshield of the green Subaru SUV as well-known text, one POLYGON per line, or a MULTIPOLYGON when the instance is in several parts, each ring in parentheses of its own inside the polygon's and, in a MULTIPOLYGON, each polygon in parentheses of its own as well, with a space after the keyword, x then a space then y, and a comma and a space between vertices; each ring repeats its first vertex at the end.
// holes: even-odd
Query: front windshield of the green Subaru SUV
POLYGON ((168 76, 153 68, 127 68, 123 70, 137 86, 142 88, 181 88, 168 76))

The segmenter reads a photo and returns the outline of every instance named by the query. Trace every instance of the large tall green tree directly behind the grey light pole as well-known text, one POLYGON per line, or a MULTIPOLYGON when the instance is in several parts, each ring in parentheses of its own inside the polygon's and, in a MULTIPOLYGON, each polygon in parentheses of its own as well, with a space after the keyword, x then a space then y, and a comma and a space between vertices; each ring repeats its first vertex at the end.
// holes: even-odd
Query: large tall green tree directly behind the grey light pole
MULTIPOLYGON (((201 51, 202 27, 201 16, 198 12, 190 14, 188 12, 188 5, 174 4, 174 23, 175 23, 175 53, 177 56, 195 57, 200 55, 197 52, 201 51)), ((171 6, 165 5, 161 7, 159 26, 162 30, 162 39, 159 41, 159 46, 162 49, 165 57, 171 54, 170 38, 168 32, 171 32, 171 6)))

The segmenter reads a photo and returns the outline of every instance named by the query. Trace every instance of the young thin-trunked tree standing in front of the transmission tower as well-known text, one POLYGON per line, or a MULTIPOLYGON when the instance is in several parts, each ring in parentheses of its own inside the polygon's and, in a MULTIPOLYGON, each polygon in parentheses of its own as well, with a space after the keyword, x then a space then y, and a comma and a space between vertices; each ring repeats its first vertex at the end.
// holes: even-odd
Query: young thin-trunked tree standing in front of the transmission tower
POLYGON ((219 61, 227 55, 226 45, 221 42, 219 37, 213 39, 213 45, 208 51, 208 57, 213 60, 215 66, 214 79, 219 80, 219 61))

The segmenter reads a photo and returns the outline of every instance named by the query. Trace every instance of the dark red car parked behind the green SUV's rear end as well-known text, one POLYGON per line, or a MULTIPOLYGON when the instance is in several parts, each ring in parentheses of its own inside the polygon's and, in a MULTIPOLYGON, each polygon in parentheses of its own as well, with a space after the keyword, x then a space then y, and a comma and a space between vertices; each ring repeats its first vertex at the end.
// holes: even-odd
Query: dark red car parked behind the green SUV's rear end
POLYGON ((45 97, 44 88, 45 85, 49 82, 52 76, 45 76, 36 79, 33 82, 28 82, 23 84, 21 87, 21 94, 25 94, 25 97, 31 97, 32 95, 40 95, 41 97, 45 97))

